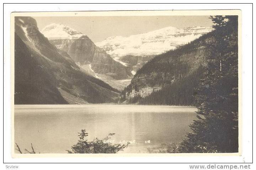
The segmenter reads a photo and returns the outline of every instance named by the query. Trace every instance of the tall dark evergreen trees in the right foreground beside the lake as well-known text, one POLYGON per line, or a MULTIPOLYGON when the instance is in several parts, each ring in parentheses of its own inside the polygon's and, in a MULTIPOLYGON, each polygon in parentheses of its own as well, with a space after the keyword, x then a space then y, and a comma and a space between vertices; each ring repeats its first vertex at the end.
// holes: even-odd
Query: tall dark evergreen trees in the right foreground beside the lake
POLYGON ((238 152, 238 16, 211 16, 214 41, 196 88, 198 120, 169 152, 238 152))

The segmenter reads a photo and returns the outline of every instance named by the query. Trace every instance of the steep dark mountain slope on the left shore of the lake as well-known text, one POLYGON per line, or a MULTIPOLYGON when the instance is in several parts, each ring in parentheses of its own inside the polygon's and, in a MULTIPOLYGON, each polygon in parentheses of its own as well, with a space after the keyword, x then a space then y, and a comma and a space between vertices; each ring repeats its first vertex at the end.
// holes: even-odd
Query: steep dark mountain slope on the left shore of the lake
POLYGON ((15 104, 106 103, 118 94, 52 45, 32 17, 15 17, 15 104))

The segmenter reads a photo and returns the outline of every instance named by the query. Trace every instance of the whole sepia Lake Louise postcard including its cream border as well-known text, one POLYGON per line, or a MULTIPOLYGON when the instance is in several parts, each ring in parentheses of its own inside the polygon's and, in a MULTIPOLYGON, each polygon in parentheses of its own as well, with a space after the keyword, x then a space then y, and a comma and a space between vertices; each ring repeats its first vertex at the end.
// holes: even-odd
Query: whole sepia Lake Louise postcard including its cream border
POLYGON ((12 155, 241 153, 240 11, 12 13, 12 155))

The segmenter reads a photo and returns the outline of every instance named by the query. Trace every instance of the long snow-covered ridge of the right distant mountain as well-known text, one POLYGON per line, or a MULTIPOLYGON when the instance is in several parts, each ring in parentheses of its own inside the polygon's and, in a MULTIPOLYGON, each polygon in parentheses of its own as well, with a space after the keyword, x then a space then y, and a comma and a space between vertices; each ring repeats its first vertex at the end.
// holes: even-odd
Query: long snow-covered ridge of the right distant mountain
POLYGON ((148 33, 131 35, 129 37, 108 37, 95 43, 113 56, 124 55, 156 55, 187 44, 201 35, 212 31, 211 27, 166 27, 148 33))

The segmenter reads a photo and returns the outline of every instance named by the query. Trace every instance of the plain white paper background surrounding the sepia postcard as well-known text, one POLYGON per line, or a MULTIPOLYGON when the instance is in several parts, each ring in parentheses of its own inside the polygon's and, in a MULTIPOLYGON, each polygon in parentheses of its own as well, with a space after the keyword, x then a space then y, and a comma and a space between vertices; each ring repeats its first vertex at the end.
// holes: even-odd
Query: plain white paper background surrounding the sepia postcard
MULTIPOLYGON (((33 1, 30 1, 33 2, 33 1)), ((1 18, 2 20, 2 18, 1 18)), ((1 21, 2 22, 2 21, 1 21)), ((2 29, 2 28, 1 28, 2 29)), ((1 30, 2 31, 2 30, 1 30)), ((4 162, 18 169, 92 169, 95 164, 19 164, 19 163, 251 163, 252 162, 252 5, 250 4, 5 4, 4 5, 4 162), (14 11, 101 11, 101 10, 242 10, 242 156, 241 157, 108 157, 108 158, 11 158, 11 82, 10 82, 10 13, 14 11)), ((1 41, 2 43, 2 41, 1 41)), ((1 44, 2 45, 2 44, 1 44)), ((1 49, 2 50, 2 49, 1 49)), ((1 51, 2 52, 2 51, 1 51)), ((2 67, 2 66, 1 66, 2 67)), ((2 86, 2 83, 1 83, 2 86)), ((2 98, 1 98, 2 100, 2 98)), ((1 101, 2 104, 2 101, 1 101)), ((255 116, 254 116, 255 119, 255 116)), ((2 128, 2 127, 1 127, 2 128)), ((2 136, 2 129, 1 129, 2 136)), ((2 157, 2 155, 1 155, 2 157)), ((206 164, 208 165, 208 164, 206 164)), ((2 167, 1 167, 2 166, 2 167)), ((1 165, 5 169, 5 165, 1 165)), ((189 169, 188 164, 168 164, 167 169, 189 169)), ((160 164, 100 164, 104 169, 160 169, 160 164)))

